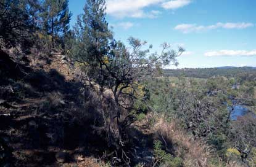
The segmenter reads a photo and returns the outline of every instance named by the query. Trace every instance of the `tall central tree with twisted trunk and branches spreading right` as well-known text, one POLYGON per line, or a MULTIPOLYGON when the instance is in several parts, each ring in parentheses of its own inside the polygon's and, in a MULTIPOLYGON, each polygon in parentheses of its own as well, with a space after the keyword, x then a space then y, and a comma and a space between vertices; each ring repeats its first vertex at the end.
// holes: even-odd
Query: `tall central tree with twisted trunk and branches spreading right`
MULTIPOLYGON (((86 66, 88 76, 100 87, 101 95, 110 90, 114 109, 103 112, 104 129, 110 146, 122 150, 126 143, 126 130, 133 123, 134 100, 138 87, 163 66, 177 65, 177 56, 184 52, 163 44, 162 52, 151 52, 152 45, 134 37, 128 39, 129 47, 115 41, 105 19, 105 1, 87 0, 84 14, 75 26, 73 59, 86 66), (148 47, 148 49, 144 49, 148 47), (112 139, 110 139, 112 138, 112 139)), ((127 158, 127 157, 126 157, 127 158)), ((126 159, 127 160, 127 159, 126 159)))

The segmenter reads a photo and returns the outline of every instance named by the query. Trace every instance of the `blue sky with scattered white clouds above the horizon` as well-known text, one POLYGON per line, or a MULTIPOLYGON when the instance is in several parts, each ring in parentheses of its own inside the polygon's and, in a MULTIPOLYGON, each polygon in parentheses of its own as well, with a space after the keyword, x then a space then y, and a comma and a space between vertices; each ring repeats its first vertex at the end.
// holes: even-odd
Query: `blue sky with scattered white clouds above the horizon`
MULTIPOLYGON (((178 68, 256 66, 255 0, 107 0, 116 39, 133 36, 160 50, 163 42, 186 52, 178 68)), ((73 14, 85 0, 70 0, 73 14)), ((173 67, 169 67, 173 68, 173 67)))

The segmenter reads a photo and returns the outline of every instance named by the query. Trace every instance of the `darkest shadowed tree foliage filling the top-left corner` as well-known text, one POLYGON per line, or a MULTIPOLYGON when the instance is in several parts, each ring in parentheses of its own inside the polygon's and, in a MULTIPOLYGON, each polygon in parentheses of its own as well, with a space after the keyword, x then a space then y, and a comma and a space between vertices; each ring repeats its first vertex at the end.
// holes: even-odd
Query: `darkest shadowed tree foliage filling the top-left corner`
POLYGON ((36 10, 36 1, 0 0, 0 49, 31 45, 36 10))

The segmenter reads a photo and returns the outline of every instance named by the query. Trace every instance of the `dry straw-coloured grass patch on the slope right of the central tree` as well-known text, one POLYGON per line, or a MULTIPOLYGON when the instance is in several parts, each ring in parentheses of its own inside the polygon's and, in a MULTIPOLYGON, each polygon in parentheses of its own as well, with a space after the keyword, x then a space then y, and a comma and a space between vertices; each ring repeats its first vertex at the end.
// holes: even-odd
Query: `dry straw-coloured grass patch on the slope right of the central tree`
POLYGON ((183 158, 184 166, 209 166, 209 147, 202 141, 195 141, 176 125, 178 123, 158 118, 154 127, 157 138, 167 149, 171 146, 176 157, 183 158))

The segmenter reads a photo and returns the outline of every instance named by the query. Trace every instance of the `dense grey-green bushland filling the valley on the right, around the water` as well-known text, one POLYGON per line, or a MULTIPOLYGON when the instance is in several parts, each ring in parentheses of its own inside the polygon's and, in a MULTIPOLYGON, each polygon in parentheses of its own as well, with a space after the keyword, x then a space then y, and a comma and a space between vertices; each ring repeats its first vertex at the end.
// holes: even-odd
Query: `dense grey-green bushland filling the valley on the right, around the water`
POLYGON ((192 138, 203 140, 211 147, 213 157, 221 158, 227 164, 235 160, 238 166, 239 161, 244 165, 252 164, 254 158, 251 157, 255 150, 255 123, 252 123, 255 122, 255 81, 180 77, 175 82, 168 78, 155 79, 147 85, 151 90, 149 103, 153 111, 164 114, 170 122, 179 120, 179 126, 192 138), (239 88, 234 85, 239 85, 239 88), (231 115, 238 104, 251 108, 251 111, 234 120, 231 115))

